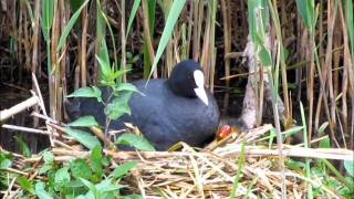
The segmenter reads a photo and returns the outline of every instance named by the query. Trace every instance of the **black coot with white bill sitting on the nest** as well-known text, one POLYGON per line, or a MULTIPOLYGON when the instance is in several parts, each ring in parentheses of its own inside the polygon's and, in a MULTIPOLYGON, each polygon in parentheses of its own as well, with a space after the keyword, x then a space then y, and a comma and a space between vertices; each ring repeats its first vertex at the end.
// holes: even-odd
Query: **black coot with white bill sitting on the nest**
MULTIPOLYGON (((133 82, 145 94, 133 94, 132 115, 112 121, 111 129, 123 128, 123 122, 136 125, 158 150, 178 142, 201 147, 215 136, 219 125, 219 107, 214 95, 205 88, 205 77, 195 61, 183 61, 169 78, 133 82)), ((104 91, 104 96, 107 96, 104 91)), ((104 97, 105 98, 105 97, 104 97)), ((75 98, 66 104, 71 119, 93 115, 104 125, 104 107, 94 98, 75 98)))

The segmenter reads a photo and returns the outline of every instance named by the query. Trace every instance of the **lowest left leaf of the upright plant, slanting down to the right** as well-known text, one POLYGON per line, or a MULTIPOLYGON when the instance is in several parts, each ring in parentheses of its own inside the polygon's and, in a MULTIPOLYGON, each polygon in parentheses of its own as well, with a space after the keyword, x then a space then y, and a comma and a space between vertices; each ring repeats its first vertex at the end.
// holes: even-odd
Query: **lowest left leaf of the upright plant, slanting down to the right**
POLYGON ((84 145, 85 147, 87 147, 88 149, 92 149, 96 145, 101 146, 100 140, 95 136, 93 136, 86 132, 66 127, 65 133, 67 135, 70 135, 71 137, 73 137, 79 143, 81 143, 82 145, 84 145))

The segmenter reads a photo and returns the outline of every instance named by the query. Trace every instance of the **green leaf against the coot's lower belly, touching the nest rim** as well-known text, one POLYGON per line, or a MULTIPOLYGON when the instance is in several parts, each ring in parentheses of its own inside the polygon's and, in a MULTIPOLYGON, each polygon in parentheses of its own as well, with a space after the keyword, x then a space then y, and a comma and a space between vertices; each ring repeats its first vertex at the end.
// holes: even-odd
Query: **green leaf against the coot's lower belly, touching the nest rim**
POLYGON ((145 139, 142 136, 131 134, 131 133, 126 133, 126 134, 123 134, 122 136, 119 136, 117 138, 117 140, 115 142, 115 144, 131 146, 131 147, 134 147, 138 150, 155 151, 154 146, 147 139, 145 139))

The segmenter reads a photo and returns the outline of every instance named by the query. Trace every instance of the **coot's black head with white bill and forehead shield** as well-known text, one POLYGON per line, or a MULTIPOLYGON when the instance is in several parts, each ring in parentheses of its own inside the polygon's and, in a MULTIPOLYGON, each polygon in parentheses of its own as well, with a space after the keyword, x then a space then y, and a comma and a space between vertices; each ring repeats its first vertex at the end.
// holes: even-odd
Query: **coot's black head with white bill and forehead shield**
POLYGON ((176 95, 198 97, 208 105, 205 90, 205 76, 199 63, 192 60, 179 62, 171 71, 168 84, 176 95))

